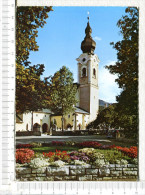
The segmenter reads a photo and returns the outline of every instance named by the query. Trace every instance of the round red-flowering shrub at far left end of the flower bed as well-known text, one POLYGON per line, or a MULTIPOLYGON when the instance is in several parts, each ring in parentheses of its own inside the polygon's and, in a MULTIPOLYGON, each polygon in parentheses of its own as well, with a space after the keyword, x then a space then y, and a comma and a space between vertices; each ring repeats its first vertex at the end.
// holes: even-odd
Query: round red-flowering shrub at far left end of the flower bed
POLYGON ((29 163, 34 157, 34 151, 28 148, 16 149, 16 163, 29 163))

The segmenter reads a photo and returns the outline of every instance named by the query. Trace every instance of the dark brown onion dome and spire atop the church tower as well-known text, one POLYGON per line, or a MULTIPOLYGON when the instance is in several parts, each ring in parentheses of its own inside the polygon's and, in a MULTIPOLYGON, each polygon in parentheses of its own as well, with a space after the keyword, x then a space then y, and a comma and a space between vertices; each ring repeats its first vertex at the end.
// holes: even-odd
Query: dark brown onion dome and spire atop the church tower
POLYGON ((85 33, 86 36, 82 41, 81 50, 83 53, 94 54, 94 50, 96 48, 96 42, 91 37, 92 29, 90 27, 89 17, 88 17, 88 23, 85 29, 85 33))

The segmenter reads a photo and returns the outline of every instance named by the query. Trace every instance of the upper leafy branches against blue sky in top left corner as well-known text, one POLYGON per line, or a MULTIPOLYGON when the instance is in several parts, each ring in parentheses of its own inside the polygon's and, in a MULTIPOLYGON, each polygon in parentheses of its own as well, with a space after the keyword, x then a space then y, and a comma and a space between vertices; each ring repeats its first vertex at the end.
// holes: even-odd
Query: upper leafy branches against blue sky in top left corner
POLYGON ((52 7, 17 7, 16 62, 28 65, 30 51, 38 51, 38 28, 43 28, 52 7))

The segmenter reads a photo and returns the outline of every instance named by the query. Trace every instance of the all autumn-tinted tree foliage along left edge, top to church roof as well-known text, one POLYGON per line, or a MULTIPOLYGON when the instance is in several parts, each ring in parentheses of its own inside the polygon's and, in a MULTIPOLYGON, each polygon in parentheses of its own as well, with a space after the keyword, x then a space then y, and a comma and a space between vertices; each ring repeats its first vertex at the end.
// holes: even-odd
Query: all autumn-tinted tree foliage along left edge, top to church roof
POLYGON ((52 7, 17 7, 16 13, 16 112, 36 111, 49 105, 49 88, 41 75, 44 65, 30 65, 30 51, 38 51, 36 37, 52 7))

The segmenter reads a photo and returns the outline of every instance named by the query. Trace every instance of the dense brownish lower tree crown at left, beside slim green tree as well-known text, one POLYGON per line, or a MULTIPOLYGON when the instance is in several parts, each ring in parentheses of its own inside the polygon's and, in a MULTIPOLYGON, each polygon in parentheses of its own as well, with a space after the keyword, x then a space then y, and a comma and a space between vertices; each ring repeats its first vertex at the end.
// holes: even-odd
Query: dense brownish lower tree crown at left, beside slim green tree
POLYGON ((50 104, 49 86, 40 79, 44 65, 17 65, 16 112, 36 111, 50 104))

